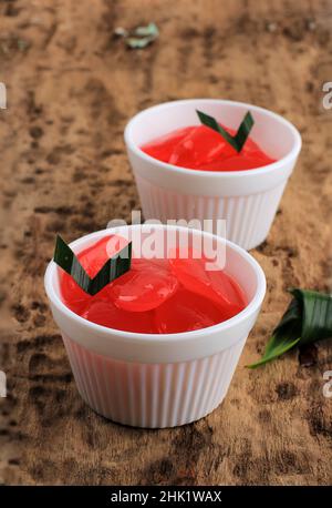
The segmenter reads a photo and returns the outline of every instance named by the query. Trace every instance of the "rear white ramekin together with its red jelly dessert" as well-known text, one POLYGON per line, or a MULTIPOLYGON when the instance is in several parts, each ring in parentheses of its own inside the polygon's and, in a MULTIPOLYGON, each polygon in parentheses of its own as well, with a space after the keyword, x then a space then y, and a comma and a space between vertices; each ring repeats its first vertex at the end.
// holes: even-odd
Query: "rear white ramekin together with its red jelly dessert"
POLYGON ((263 242, 301 149, 282 116, 242 102, 190 99, 136 114, 125 142, 146 220, 199 221, 246 250, 263 242), (235 133, 250 111, 255 125, 241 153, 200 125, 196 110, 235 133), (206 224, 209 220, 211 223, 206 224))

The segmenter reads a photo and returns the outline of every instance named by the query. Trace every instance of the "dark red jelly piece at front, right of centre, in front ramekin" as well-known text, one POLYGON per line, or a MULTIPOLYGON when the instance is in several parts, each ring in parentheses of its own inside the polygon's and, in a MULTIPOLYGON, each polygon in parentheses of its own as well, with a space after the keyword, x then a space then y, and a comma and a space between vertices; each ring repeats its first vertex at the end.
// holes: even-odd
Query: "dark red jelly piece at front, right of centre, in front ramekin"
POLYGON ((160 334, 206 328, 227 318, 210 299, 183 287, 155 311, 155 322, 160 334))

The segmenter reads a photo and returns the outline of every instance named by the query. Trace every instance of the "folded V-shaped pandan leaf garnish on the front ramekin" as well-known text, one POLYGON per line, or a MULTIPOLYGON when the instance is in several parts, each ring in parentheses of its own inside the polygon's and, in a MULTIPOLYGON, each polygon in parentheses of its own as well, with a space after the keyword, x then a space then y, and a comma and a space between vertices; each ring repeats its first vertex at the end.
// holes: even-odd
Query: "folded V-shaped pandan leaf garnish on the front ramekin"
POLYGON ((87 275, 76 255, 60 235, 56 236, 53 261, 71 275, 85 293, 95 295, 110 282, 115 281, 131 268, 132 242, 110 257, 93 278, 87 275))

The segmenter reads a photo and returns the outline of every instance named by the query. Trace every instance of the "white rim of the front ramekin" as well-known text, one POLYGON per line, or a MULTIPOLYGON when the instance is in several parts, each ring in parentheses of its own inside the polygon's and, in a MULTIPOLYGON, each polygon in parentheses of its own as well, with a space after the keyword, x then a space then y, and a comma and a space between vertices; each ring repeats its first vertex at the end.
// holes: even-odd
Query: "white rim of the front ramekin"
MULTIPOLYGON (((146 224, 151 228, 152 224, 146 224)), ((97 240, 100 237, 105 236, 106 234, 116 234, 118 233, 120 230, 123 230, 124 227, 129 227, 129 228, 144 228, 145 224, 135 224, 135 225, 127 225, 127 226, 117 226, 117 227, 110 227, 106 230, 100 230, 94 233, 90 233, 87 235, 81 236, 80 238, 75 240, 74 242, 70 243, 70 246, 72 248, 77 247, 80 244, 84 244, 86 240, 97 240)), ((172 230, 177 230, 177 231, 187 231, 188 228, 185 226, 177 226, 177 225, 167 225, 167 224, 153 224, 154 227, 157 228, 172 228, 172 230)), ((214 326, 208 326, 206 328, 199 328, 195 329, 191 332, 180 332, 176 334, 144 334, 144 333, 136 333, 136 332, 125 332, 122 329, 116 329, 116 328, 108 328, 106 326, 98 325, 96 323, 90 322, 85 319, 82 316, 79 316, 75 314, 73 311, 68 308, 68 306, 62 302, 60 298, 60 295, 58 295, 56 291, 53 287, 53 275, 54 271, 58 270, 58 265, 54 263, 54 261, 50 261, 45 275, 44 275, 44 286, 46 291, 46 295, 50 298, 51 303, 62 313, 66 315, 68 318, 73 319, 77 322, 77 324, 84 325, 87 328, 91 329, 91 332, 102 332, 103 334, 108 335, 110 334, 110 339, 112 339, 112 336, 117 335, 121 337, 124 342, 135 342, 135 343, 156 343, 156 342, 165 342, 169 341, 170 343, 176 343, 177 341, 185 341, 185 339, 196 339, 199 337, 204 337, 207 333, 215 333, 215 332, 225 332, 232 326, 236 326, 243 321, 246 321, 250 315, 252 315, 261 305, 264 294, 266 294, 266 276, 264 273, 259 265, 259 263, 242 247, 238 246, 234 242, 230 242, 229 240, 222 238, 221 236, 217 236, 212 233, 208 232, 203 232, 200 230, 194 230, 193 232, 200 232, 207 237, 210 237, 211 240, 214 238, 215 241, 221 241, 226 242, 226 245, 229 246, 231 250, 236 251, 238 254, 240 254, 247 263, 250 264, 250 266, 253 268, 256 277, 257 277, 257 289, 253 298, 251 302, 241 311, 239 314, 236 316, 231 317, 230 319, 227 319, 222 323, 218 323, 214 326)))

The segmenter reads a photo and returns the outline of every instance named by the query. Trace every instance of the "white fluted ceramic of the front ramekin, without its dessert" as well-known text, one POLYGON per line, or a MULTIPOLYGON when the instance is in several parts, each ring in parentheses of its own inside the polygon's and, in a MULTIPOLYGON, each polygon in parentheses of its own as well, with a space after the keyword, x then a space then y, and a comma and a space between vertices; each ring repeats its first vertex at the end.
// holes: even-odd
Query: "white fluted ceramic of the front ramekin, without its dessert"
MULTIPOLYGON (((110 233, 142 237, 152 226, 121 226, 73 242, 75 253, 110 233)), ((137 427, 174 427, 197 420, 224 399, 246 338, 258 316, 266 278, 246 251, 210 233, 155 225, 169 234, 186 231, 189 238, 226 246, 225 270, 242 286, 248 306, 218 325, 179 334, 137 334, 106 328, 70 311, 61 301, 59 268, 52 261, 45 289, 61 329, 74 378, 83 399, 98 414, 137 427), (201 236, 203 235, 203 236, 201 236), (226 244, 226 245, 225 245, 226 244)), ((178 236, 172 235, 172 248, 178 236)))

